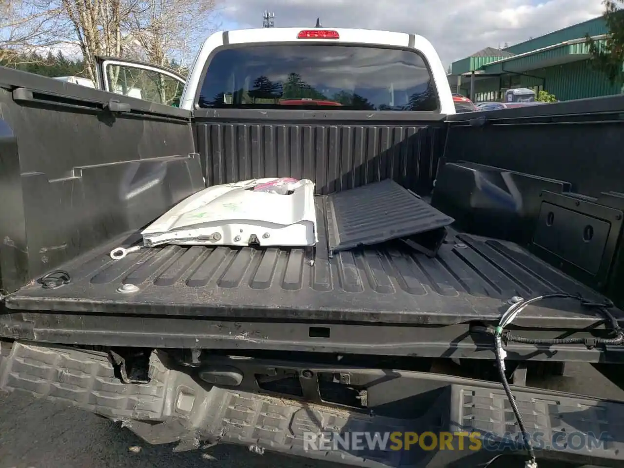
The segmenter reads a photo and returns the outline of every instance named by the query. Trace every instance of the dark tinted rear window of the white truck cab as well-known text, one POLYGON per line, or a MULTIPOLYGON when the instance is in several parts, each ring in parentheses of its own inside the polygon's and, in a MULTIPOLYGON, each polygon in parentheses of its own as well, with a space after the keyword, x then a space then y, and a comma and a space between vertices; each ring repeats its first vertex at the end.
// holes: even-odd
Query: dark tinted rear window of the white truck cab
POLYGON ((439 108, 431 73, 417 52, 313 44, 221 49, 208 65, 198 105, 238 109, 439 108))

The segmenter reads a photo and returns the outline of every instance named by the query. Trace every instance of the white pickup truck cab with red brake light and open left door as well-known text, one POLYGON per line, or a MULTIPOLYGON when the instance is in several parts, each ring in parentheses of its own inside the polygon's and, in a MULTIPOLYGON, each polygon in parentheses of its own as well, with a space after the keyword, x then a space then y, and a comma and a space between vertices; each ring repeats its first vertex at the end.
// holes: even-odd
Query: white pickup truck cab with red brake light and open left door
POLYGON ((98 63, 100 89, 124 94, 122 88, 130 90, 137 82, 142 82, 142 99, 188 110, 205 107, 196 98, 198 87, 205 85, 205 76, 209 73, 216 80, 229 80, 232 89, 232 92, 222 93, 222 101, 215 105, 284 104, 334 109, 343 106, 351 110, 456 112, 446 72, 431 42, 403 32, 294 27, 215 32, 203 42, 187 79, 173 70, 144 62, 98 57, 98 63), (236 53, 231 52, 232 46, 236 46, 236 53), (307 47, 323 49, 319 48, 314 54, 307 47), (236 67, 232 66, 234 55, 240 62, 236 67), (280 59, 266 60, 268 56, 280 56, 280 59), (260 71, 253 65, 256 60, 265 63, 260 71), (289 85, 301 76, 302 66, 314 69, 318 82, 310 85, 311 77, 306 76, 304 88, 311 86, 313 89, 293 94, 293 86, 289 88, 289 85), (255 76, 241 72, 245 67, 248 70, 255 67, 255 76), (110 85, 113 74, 118 84, 115 89, 110 85), (267 81, 259 84, 258 77, 267 81), (124 83, 124 79, 132 81, 124 83), (165 87, 166 91, 146 92, 149 82, 159 83, 157 87, 165 87), (269 84, 280 89, 281 94, 276 94, 275 89, 271 94, 271 89, 266 88, 269 84), (258 89, 265 94, 268 92, 268 97, 258 97, 262 94, 258 89), (357 102, 344 102, 346 95, 355 96, 357 102), (341 102, 333 99, 336 96, 341 102))

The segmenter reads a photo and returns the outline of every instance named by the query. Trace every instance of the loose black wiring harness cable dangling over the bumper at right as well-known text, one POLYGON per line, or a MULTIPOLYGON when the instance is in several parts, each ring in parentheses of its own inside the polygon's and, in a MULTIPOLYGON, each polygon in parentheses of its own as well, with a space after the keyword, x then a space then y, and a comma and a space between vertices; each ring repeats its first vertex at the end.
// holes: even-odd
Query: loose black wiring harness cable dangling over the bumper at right
POLYGON ((525 462, 526 468, 537 468, 537 459, 535 457, 535 450, 531 444, 529 439, 529 433, 527 432, 526 426, 524 424, 524 420, 522 419, 522 414, 520 414, 520 410, 518 405, 515 402, 515 397, 512 394, 511 388, 509 387, 509 381, 507 381, 507 376, 505 375, 505 349, 503 348, 503 341, 506 343, 514 342, 514 343, 524 343, 524 344, 538 344, 538 345, 551 345, 551 344, 585 344, 588 348, 593 348, 597 345, 618 345, 624 344, 624 330, 620 328, 617 319, 613 316, 612 313, 608 310, 613 307, 613 303, 611 301, 606 301, 605 303, 596 303, 592 301, 585 300, 580 295, 573 295, 567 293, 549 293, 542 296, 536 296, 531 299, 522 299, 522 298, 514 298, 514 303, 505 311, 505 313, 500 318, 499 324, 496 328, 489 328, 485 326, 477 326, 472 328, 472 331, 477 331, 480 333, 486 333, 494 336, 494 344, 495 344, 495 354, 496 354, 496 362, 497 367, 500 374, 500 380, 502 382, 502 386, 505 390, 505 394, 507 395, 507 399, 509 399, 509 404, 512 407, 512 411, 514 411, 514 416, 516 421, 518 422, 518 426, 520 428, 520 432, 522 433, 522 438, 524 440, 525 449, 529 453, 529 460, 525 462), (592 308, 597 310, 603 318, 605 318, 606 326, 610 329, 613 334, 613 338, 552 338, 552 339, 542 339, 542 338, 523 338, 522 336, 515 336, 514 334, 510 334, 509 332, 505 332, 505 327, 514 321, 514 319, 518 316, 518 314, 524 310, 527 306, 532 305, 538 301, 542 301, 547 298, 569 298, 580 301, 582 306, 587 308, 592 308))

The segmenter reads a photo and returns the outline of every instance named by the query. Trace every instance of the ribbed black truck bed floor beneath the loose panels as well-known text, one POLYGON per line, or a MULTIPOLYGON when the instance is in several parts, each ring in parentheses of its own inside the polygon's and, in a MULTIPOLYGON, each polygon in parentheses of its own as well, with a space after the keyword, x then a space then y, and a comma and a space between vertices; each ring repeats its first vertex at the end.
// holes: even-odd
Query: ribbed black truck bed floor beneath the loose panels
MULTIPOLYGON (((325 201, 317 200, 319 220, 325 201)), ((46 290, 32 283, 7 296, 7 308, 442 325, 497 319, 512 296, 564 291, 604 299, 513 243, 454 232, 436 258, 400 241, 328 258, 323 223, 316 250, 165 246, 111 260, 108 253, 119 245, 62 266, 72 277, 65 286, 46 290), (123 283, 139 291, 119 293, 123 283)), ((549 300, 517 321, 578 328, 596 316, 578 301, 549 300)))

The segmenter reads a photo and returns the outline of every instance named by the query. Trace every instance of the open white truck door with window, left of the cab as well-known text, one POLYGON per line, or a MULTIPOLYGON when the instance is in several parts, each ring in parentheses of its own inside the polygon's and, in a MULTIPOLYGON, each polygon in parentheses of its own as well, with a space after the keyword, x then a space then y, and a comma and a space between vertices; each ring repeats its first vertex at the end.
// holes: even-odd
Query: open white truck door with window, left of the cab
POLYGON ((96 56, 99 89, 178 107, 186 79, 166 67, 96 56))

